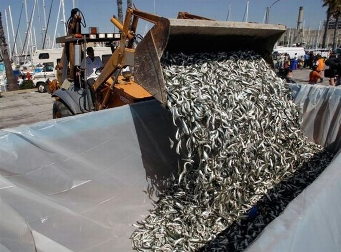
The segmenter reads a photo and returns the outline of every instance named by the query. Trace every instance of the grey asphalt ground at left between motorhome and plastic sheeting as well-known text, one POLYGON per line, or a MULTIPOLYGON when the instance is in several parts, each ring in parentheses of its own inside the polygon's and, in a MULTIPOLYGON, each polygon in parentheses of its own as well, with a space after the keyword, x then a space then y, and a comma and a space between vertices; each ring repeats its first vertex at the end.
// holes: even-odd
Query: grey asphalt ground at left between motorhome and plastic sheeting
POLYGON ((37 88, 1 92, 0 128, 30 125, 52 119, 55 99, 48 93, 38 93, 37 88))

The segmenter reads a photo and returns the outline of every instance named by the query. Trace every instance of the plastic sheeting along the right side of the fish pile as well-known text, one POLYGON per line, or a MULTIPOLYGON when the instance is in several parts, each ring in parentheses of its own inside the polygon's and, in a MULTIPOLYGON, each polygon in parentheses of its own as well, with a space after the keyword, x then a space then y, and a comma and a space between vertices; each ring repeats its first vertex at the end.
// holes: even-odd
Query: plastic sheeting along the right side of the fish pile
MULTIPOLYGON (((341 148, 341 88, 292 84, 303 130, 315 143, 341 148)), ((322 174, 267 225, 246 252, 341 251, 341 151, 322 174)))

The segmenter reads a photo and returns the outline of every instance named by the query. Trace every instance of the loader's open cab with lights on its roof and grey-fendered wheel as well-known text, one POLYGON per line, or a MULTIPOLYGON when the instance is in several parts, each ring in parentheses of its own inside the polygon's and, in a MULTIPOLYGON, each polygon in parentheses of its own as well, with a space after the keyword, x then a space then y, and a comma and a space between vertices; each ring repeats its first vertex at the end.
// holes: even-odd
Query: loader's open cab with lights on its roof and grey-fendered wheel
MULTIPOLYGON (((81 37, 78 35, 70 34, 56 39, 57 43, 63 43, 64 47, 68 49, 62 52, 64 55, 61 55, 61 66, 66 65, 66 67, 57 67, 56 70, 59 87, 56 86, 57 88, 51 89, 54 90, 52 97, 56 98, 53 118, 94 110, 95 101, 101 99, 102 93, 98 92, 95 97, 92 84, 96 78, 84 78, 85 69, 83 69, 81 62, 87 57, 86 48, 88 46, 93 47, 95 58, 99 57, 102 64, 106 65, 113 56, 117 42, 121 38, 119 33, 83 33, 81 37), (106 46, 96 46, 104 44, 106 46), (73 62, 71 63, 69 59, 73 59, 73 62)), ((101 67, 97 68, 95 74, 99 76, 101 69, 101 67)), ((86 69, 86 71, 93 71, 93 69, 86 69)))

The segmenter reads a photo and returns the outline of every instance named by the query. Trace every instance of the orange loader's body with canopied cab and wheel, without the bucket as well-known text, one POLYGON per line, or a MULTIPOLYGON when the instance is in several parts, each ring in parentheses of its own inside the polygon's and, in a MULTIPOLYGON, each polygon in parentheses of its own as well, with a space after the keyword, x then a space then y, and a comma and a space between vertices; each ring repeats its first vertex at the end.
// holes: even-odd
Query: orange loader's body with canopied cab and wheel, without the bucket
MULTIPOLYGON (((52 93, 52 97, 56 98, 53 105, 53 118, 154 99, 149 92, 132 78, 134 49, 129 49, 125 52, 122 65, 118 66, 115 63, 120 53, 118 50, 120 47, 117 47, 120 34, 117 34, 117 36, 114 34, 114 36, 110 37, 91 35, 90 37, 88 34, 82 34, 82 38, 73 38, 73 36, 57 38, 57 42, 70 43, 68 46, 71 48, 70 51, 74 50, 75 61, 73 63, 76 67, 73 73, 71 73, 71 71, 68 71, 70 62, 66 62, 68 67, 57 70, 58 81, 61 83, 61 86, 52 93), (110 50, 110 53, 103 51, 101 55, 98 55, 103 64, 103 68, 97 68, 95 71, 98 77, 95 79, 84 78, 88 68, 82 68, 80 58, 84 59, 86 57, 88 44, 107 41, 111 42, 111 46, 106 47, 107 50, 110 50), (95 86, 96 84, 98 84, 97 87, 95 86)), ((91 45, 93 44, 89 44, 89 46, 91 45)), ((96 57, 96 47, 93 48, 96 57)), ((66 57, 68 56, 67 52, 64 53, 63 59, 68 59, 66 57)))

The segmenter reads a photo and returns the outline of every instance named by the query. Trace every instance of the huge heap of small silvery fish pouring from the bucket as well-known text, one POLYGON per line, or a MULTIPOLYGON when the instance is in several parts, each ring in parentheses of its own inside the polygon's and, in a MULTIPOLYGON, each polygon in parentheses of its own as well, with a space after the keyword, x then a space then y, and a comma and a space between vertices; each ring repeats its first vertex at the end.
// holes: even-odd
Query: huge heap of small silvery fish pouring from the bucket
POLYGON ((132 234, 138 251, 242 251, 328 165, 283 81, 253 52, 165 54, 178 130, 174 185, 132 234))

